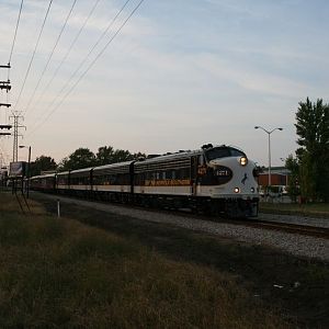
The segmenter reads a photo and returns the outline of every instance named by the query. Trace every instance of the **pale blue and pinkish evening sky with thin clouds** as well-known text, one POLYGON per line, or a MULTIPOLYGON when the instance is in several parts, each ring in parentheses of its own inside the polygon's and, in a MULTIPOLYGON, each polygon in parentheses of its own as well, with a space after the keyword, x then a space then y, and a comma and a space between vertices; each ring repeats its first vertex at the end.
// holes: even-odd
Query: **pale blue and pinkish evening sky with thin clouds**
MULTIPOLYGON (((23 116, 19 144, 32 160, 59 162, 80 147, 163 154, 212 143, 268 166, 269 136, 256 125, 283 128, 271 134, 272 166, 294 155, 298 103, 329 103, 327 0, 145 0, 135 12, 139 0, 126 1, 54 0, 46 21, 48 0, 23 2, 12 89, 0 91, 12 106, 0 107, 0 123, 23 116)), ((0 0, 0 65, 20 4, 0 0)), ((2 164, 12 144, 0 139, 2 164)))

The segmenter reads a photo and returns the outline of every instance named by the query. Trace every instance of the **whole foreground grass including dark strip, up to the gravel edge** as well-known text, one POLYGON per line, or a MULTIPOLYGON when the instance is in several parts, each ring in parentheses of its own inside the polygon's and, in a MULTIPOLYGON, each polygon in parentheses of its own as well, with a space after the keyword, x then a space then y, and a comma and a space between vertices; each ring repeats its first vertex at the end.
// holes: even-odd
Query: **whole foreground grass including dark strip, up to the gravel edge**
POLYGON ((328 306, 325 264, 83 207, 56 218, 31 206, 22 216, 0 194, 1 328, 326 326, 313 314, 328 306), (293 292, 273 288, 296 280, 293 292))

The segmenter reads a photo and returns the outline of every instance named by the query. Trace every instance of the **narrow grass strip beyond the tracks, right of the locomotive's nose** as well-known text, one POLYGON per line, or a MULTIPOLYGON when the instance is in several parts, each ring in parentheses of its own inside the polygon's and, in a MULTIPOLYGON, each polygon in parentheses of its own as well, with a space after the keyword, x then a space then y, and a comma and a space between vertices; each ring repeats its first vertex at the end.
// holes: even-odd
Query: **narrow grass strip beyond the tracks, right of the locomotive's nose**
POLYGON ((329 219, 328 203, 260 203, 260 212, 288 215, 314 216, 329 219))

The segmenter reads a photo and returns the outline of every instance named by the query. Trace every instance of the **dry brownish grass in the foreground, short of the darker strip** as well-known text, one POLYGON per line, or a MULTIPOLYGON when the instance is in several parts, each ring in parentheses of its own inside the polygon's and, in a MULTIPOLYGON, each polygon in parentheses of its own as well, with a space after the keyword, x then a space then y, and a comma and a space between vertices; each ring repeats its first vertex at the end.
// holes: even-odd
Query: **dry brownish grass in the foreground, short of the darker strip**
POLYGON ((288 325, 231 274, 169 260, 133 239, 68 218, 9 211, 0 218, 0 327, 288 325))

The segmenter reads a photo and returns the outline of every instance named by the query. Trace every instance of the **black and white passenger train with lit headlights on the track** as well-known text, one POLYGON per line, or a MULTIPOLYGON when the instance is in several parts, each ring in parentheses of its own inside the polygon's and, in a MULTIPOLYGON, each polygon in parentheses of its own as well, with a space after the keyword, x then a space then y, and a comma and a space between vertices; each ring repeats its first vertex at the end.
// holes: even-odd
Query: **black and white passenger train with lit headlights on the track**
POLYGON ((30 188, 229 217, 257 216, 259 204, 254 162, 236 147, 211 144, 195 151, 33 177, 30 188))

